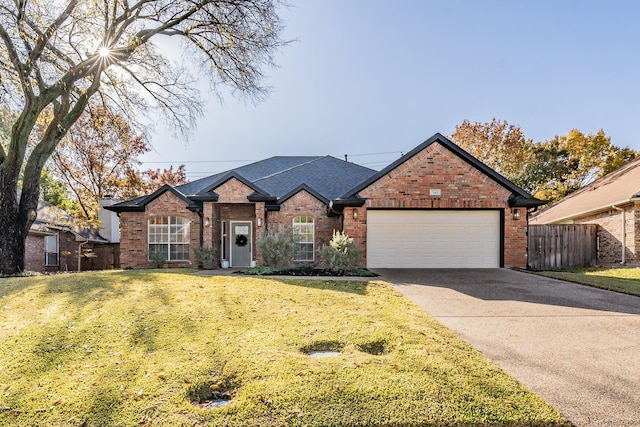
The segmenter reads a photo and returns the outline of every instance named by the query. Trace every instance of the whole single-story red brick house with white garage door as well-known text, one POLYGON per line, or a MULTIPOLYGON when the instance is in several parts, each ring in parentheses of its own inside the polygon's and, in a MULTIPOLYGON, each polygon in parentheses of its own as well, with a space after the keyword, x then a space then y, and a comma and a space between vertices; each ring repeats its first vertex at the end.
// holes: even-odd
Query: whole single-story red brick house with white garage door
POLYGON ((232 267, 260 264, 256 240, 292 227, 300 262, 317 262, 333 230, 363 265, 526 267, 528 208, 543 204, 440 134, 380 172, 334 157, 272 157, 118 203, 123 267, 157 253, 193 265, 213 247, 232 267))

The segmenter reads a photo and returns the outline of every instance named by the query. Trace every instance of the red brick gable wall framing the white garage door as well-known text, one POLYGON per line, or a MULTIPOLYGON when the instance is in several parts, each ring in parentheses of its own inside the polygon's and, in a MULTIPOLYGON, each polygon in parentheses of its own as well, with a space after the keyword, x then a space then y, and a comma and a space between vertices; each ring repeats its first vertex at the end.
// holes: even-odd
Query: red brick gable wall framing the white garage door
POLYGON ((475 169, 437 142, 431 144, 396 169, 360 192, 367 199, 353 218, 346 208, 344 230, 359 242, 366 264, 366 223, 368 208, 501 209, 504 211, 504 266, 527 265, 526 209, 513 220, 508 205, 511 192, 475 169), (439 197, 430 196, 439 189, 439 197))

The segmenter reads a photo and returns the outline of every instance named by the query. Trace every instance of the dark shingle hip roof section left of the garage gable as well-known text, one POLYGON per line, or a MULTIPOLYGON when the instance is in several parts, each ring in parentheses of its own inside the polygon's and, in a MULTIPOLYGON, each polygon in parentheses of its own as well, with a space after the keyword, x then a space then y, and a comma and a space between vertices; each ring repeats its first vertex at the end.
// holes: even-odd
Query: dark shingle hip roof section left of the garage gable
MULTIPOLYGON (((185 199, 216 197, 212 193, 216 187, 230 178, 236 178, 253 188, 256 196, 284 201, 294 190, 306 188, 315 197, 328 203, 375 173, 373 169, 331 156, 276 156, 179 185, 172 190, 185 199)), ((117 203, 108 209, 143 209, 152 196, 117 203)))

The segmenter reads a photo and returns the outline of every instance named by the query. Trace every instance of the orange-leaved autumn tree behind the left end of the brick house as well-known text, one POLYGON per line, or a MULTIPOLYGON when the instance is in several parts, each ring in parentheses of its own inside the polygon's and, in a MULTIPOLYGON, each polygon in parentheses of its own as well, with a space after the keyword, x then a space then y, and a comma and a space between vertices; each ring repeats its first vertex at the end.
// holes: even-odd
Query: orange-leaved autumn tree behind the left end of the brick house
POLYGON ((58 144, 49 161, 54 178, 75 201, 71 214, 98 225, 98 199, 126 200, 144 194, 138 157, 149 151, 146 139, 119 114, 89 108, 58 144))

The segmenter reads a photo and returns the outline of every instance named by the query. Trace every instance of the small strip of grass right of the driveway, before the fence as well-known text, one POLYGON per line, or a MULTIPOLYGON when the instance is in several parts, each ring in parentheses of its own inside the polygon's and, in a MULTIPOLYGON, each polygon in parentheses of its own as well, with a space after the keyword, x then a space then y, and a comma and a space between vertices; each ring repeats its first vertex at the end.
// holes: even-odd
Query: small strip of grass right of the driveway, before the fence
POLYGON ((640 296, 640 268, 583 268, 535 273, 595 288, 640 296))

